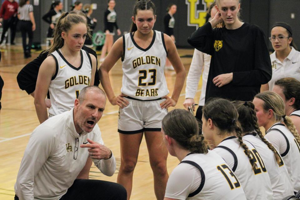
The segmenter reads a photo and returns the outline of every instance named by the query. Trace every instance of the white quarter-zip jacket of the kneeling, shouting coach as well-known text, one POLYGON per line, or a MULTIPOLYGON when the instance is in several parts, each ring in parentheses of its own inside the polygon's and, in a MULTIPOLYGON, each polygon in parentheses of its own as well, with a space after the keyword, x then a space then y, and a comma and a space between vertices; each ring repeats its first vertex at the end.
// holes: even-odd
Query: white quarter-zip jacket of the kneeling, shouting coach
MULTIPOLYGON (((80 148, 80 144, 87 143, 87 138, 103 144, 97 129, 100 133, 96 124, 92 132, 79 135, 73 122, 73 109, 39 125, 30 136, 14 186, 19 199, 61 198, 88 159, 88 148, 80 148)), ((108 160, 93 162, 107 176, 116 170, 113 155, 108 160)))

